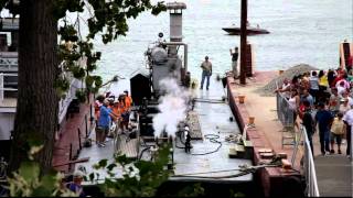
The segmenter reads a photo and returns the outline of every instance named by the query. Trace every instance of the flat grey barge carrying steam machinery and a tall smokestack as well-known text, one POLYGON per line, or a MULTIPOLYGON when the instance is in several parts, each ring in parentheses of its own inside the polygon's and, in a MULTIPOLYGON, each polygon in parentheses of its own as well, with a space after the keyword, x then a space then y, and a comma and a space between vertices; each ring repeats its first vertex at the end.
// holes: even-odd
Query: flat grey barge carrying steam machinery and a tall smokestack
MULTIPOLYGON (((78 158, 90 160, 77 163, 75 169, 92 173, 95 163, 104 158, 111 160, 115 153, 133 161, 152 161, 154 150, 167 142, 171 143, 172 150, 165 168, 172 169, 174 175, 160 187, 161 195, 176 195, 184 185, 200 183, 204 185, 207 195, 224 193, 224 196, 228 196, 229 189, 235 187, 246 195, 258 196, 258 191, 253 190, 254 173, 243 175, 239 169, 240 166, 253 166, 252 145, 238 145, 242 130, 234 122, 232 110, 224 100, 222 81, 212 79, 212 87, 206 92, 190 88, 189 51, 188 44, 182 41, 180 25, 181 10, 186 6, 173 2, 168 3, 167 8, 171 18, 170 41, 167 42, 160 33, 158 41, 149 45, 145 53, 148 67, 130 76, 133 100, 130 129, 124 133, 118 132, 115 139, 108 140, 105 147, 93 144, 83 148, 78 158), (168 111, 163 109, 165 106, 168 111)), ((120 87, 118 84, 125 82, 120 80, 113 84, 105 91, 118 96, 124 91, 117 90, 120 87)), ((98 179, 84 184, 87 191, 95 191, 96 184, 111 177, 104 172, 98 173, 98 179)), ((113 178, 120 177, 121 170, 116 169, 116 173, 113 178)), ((101 194, 95 191, 90 196, 98 195, 101 194)))

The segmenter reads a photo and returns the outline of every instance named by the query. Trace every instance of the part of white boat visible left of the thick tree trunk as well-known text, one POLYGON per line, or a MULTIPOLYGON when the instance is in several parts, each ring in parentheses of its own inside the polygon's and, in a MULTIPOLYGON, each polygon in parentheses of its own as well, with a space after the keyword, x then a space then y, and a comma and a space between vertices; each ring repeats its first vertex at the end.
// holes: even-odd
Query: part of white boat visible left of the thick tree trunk
POLYGON ((18 96, 18 40, 19 19, 0 19, 0 157, 6 162, 18 96))

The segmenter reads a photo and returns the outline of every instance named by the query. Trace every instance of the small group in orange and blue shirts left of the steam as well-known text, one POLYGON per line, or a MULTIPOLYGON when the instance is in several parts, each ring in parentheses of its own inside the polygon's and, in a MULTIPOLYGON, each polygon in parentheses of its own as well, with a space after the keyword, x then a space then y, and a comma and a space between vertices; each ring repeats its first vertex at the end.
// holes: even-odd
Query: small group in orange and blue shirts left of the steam
POLYGON ((129 91, 116 97, 111 92, 105 96, 99 95, 95 101, 95 119, 96 119, 96 143, 98 146, 106 146, 106 138, 113 138, 118 131, 122 133, 128 130, 130 108, 132 98, 129 91), (115 130, 110 130, 115 125, 115 130))

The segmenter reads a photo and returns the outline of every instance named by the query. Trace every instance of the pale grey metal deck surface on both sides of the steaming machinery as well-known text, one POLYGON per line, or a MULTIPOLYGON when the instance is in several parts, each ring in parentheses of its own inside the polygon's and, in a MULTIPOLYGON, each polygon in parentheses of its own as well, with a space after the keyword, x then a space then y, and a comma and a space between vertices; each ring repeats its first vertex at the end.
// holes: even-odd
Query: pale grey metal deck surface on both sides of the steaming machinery
MULTIPOLYGON (((120 81, 121 82, 121 81, 120 81)), ((122 90, 121 90, 122 91, 122 90)), ((239 160, 239 158, 229 158, 228 150, 229 146, 234 146, 234 143, 228 143, 225 141, 225 136, 229 134, 239 133, 239 128, 237 123, 234 121, 232 111, 226 102, 212 102, 214 100, 221 101, 222 97, 225 95, 225 90, 223 89, 221 81, 211 81, 210 90, 193 90, 193 96, 200 98, 200 101, 196 101, 195 108, 192 112, 193 122, 196 123, 192 129, 199 132, 199 136, 202 140, 192 140, 192 150, 191 154, 186 154, 183 148, 174 147, 174 163, 175 169, 174 173, 178 177, 172 177, 171 180, 179 182, 207 182, 207 183, 247 183, 253 180, 253 175, 248 174, 240 177, 234 178, 218 178, 220 176, 229 176, 234 174, 238 174, 238 170, 233 172, 222 172, 225 169, 236 169, 238 165, 247 164, 252 165, 250 160, 239 160), (197 112, 197 113, 195 113, 197 112), (200 123, 197 123, 200 121, 200 123), (197 129, 199 127, 199 129, 197 129), (222 146, 217 152, 212 154, 202 155, 204 153, 213 152, 218 147, 217 143, 212 143, 205 135, 216 135, 220 136, 216 139, 222 142, 222 146), (218 172, 222 173, 210 173, 210 172, 218 172), (200 174, 203 173, 203 174, 200 174), (188 177, 184 177, 188 175, 188 177), (208 178, 201 178, 208 177, 208 178), (213 177, 213 178, 210 178, 213 177)), ((92 134, 93 139, 95 139, 94 134, 92 134)), ((124 141, 120 142, 124 144, 124 141)), ((132 142, 131 142, 132 143, 132 142)), ((137 143, 137 142, 135 142, 137 143)), ((178 142, 179 146, 183 146, 180 142, 178 142)), ((121 146, 121 145, 120 145, 121 146)), ((128 148, 127 148, 128 150, 128 148)), ((101 158, 113 158, 115 147, 114 141, 107 142, 106 147, 97 147, 95 144, 92 147, 83 148, 79 158, 89 156, 90 160, 86 163, 79 163, 76 165, 76 169, 78 165, 84 165, 87 169, 87 173, 90 173, 92 165, 97 163, 101 158)), ((129 150, 130 151, 130 150, 129 150)), ((141 148, 140 148, 141 151, 141 148)), ((131 154, 132 154, 131 150, 131 154)), ((147 158, 145 156, 142 158, 147 158)), ((120 170, 117 170, 120 173, 120 170)), ((100 176, 104 177, 104 173, 100 173, 100 176)))

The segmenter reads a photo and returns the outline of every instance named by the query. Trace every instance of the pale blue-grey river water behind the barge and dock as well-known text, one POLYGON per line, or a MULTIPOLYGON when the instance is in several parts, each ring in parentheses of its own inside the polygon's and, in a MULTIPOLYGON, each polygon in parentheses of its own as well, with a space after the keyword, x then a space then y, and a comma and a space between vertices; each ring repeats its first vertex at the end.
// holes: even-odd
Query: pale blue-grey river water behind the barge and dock
MULTIPOLYGON (((239 46, 239 36, 227 35, 224 26, 240 23, 240 0, 184 0, 183 42, 189 44, 189 70, 200 78, 200 63, 210 56, 214 72, 231 68, 229 48, 239 46)), ((256 70, 286 69, 307 63, 319 68, 339 65, 339 44, 353 37, 352 0, 248 0, 248 21, 270 34, 248 36, 255 50, 256 70)), ((97 73, 104 79, 127 78, 146 66, 148 44, 164 33, 169 41, 169 13, 142 13, 129 21, 127 36, 104 45, 97 73)))

